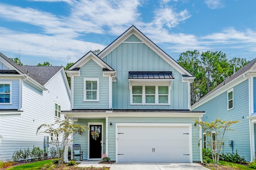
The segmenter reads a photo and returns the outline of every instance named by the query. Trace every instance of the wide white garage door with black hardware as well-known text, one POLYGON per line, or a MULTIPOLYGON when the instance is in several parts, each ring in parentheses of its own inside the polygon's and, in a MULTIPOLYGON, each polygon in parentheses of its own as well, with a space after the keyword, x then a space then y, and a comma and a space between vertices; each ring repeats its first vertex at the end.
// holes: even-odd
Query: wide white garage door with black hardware
POLYGON ((190 162, 189 127, 118 126, 118 162, 190 162))

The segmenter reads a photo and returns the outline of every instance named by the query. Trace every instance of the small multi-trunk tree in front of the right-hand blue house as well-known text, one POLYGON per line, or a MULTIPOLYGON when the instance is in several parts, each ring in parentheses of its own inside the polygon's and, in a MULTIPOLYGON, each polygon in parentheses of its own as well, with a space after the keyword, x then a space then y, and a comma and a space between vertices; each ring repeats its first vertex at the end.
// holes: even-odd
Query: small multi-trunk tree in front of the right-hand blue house
POLYGON ((212 122, 199 122, 198 120, 195 120, 195 122, 196 124, 200 125, 199 129, 202 128, 202 131, 206 134, 209 141, 207 146, 209 146, 212 150, 213 163, 218 165, 220 159, 220 150, 222 150, 221 146, 224 142, 224 134, 228 130, 235 132, 234 129, 230 129, 229 127, 240 121, 229 120, 226 122, 224 120, 216 119, 212 122))

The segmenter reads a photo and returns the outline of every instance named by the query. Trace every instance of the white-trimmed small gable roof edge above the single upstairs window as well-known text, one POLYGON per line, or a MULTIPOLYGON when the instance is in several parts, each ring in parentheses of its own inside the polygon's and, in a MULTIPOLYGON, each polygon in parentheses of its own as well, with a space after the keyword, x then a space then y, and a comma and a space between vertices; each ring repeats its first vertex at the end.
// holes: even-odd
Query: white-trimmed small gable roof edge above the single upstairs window
POLYGON ((76 70, 78 71, 80 67, 82 67, 86 62, 88 62, 88 58, 92 57, 92 59, 99 64, 102 68, 106 68, 109 71, 114 71, 112 67, 110 67, 106 62, 104 62, 102 59, 100 59, 96 54, 94 54, 92 51, 89 51, 87 54, 85 54, 82 58, 80 58, 77 62, 75 62, 72 66, 70 66, 67 70, 76 70))

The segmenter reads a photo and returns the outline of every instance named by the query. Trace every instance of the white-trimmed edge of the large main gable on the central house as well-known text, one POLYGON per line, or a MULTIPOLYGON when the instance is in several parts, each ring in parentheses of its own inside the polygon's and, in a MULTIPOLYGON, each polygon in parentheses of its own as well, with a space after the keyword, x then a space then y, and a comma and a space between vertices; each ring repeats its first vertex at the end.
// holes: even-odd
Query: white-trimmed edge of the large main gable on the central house
MULTIPOLYGON (((126 30, 122 35, 120 35, 114 42, 108 45, 104 50, 102 50, 99 54, 99 58, 104 58, 107 56, 114 48, 119 46, 122 42, 124 42, 127 38, 129 38, 132 34, 134 34, 137 38, 139 38, 143 43, 149 46, 154 52, 156 52, 160 57, 162 57, 166 62, 172 65, 180 74, 187 75, 188 77, 194 76, 188 72, 185 68, 180 66, 178 62, 176 62, 173 58, 171 58, 166 52, 164 52, 161 48, 159 48, 154 42, 152 42, 148 37, 146 37, 140 30, 138 30, 135 26, 131 26, 126 30)), ((186 76, 183 76, 186 78, 186 76)))

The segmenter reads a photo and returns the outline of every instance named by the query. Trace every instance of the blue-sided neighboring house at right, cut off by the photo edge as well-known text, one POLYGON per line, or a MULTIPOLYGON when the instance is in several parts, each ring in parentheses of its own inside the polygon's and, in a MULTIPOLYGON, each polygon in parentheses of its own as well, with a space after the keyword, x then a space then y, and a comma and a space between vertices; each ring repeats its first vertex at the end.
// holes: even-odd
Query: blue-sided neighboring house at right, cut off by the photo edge
POLYGON ((238 150, 240 156, 252 161, 255 158, 256 136, 256 59, 227 78, 191 108, 193 111, 204 110, 206 115, 202 121, 205 122, 212 122, 216 118, 240 120, 230 127, 236 132, 226 132, 222 152, 238 150), (229 145, 231 141, 232 146, 229 145))

